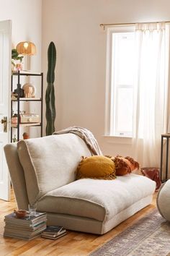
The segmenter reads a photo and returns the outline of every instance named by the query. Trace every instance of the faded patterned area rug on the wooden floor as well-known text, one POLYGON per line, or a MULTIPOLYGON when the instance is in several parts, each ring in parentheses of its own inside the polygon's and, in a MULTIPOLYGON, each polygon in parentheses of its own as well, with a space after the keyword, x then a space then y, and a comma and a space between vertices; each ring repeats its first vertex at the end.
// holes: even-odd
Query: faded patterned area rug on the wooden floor
POLYGON ((166 256, 169 252, 170 222, 155 209, 90 255, 166 256))

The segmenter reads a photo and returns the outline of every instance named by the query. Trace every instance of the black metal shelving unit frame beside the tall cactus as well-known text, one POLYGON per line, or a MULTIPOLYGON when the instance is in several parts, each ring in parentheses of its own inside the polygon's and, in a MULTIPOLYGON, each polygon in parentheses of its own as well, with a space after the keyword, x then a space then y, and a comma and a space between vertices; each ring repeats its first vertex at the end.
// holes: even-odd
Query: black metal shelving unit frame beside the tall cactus
POLYGON ((11 118, 12 118, 12 108, 13 108, 13 102, 17 102, 17 124, 11 124, 11 142, 12 142, 12 129, 17 129, 17 141, 19 141, 19 129, 20 127, 40 127, 40 136, 42 137, 42 98, 43 98, 43 73, 37 73, 37 72, 13 72, 12 73, 12 88, 13 91, 13 77, 17 76, 17 98, 12 98, 11 103, 11 118), (19 97, 19 89, 20 89, 20 77, 21 76, 36 76, 41 77, 41 98, 21 98, 19 97), (23 101, 30 101, 30 102, 40 102, 41 108, 40 108, 40 122, 39 123, 27 123, 27 124, 21 124, 20 118, 19 118, 19 111, 20 111, 20 102, 23 101))

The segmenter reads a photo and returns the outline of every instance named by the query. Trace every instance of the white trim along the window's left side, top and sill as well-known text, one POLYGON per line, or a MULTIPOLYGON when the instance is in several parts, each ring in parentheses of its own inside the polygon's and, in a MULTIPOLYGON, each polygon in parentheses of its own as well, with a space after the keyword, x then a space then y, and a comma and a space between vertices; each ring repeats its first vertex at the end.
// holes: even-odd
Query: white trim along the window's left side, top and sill
POLYGON ((105 116, 104 116, 104 137, 121 137, 122 139, 131 137, 115 136, 111 134, 112 131, 112 97, 113 88, 112 81, 112 33, 117 32, 131 32, 135 31, 135 25, 113 26, 107 27, 107 49, 106 49, 106 89, 105 89, 105 116))

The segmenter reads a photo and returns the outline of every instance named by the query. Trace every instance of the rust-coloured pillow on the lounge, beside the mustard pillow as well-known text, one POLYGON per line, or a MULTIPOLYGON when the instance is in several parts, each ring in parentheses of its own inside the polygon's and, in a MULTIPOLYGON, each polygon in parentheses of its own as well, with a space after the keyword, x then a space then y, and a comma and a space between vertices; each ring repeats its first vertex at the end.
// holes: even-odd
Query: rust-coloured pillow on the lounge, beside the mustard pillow
POLYGON ((139 169, 139 163, 136 162, 130 156, 123 158, 121 155, 115 157, 109 157, 115 163, 115 170, 117 176, 123 176, 125 174, 130 174, 136 168, 139 169))

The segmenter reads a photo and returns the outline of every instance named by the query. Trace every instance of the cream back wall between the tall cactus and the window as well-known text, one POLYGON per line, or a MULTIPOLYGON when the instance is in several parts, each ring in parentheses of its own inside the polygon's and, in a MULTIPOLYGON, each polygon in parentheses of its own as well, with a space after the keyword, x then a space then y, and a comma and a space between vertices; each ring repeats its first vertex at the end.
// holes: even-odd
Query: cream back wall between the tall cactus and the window
POLYGON ((86 127, 105 154, 130 155, 123 138, 103 137, 106 33, 99 24, 164 20, 170 20, 169 0, 42 0, 44 72, 51 40, 57 49, 56 129, 86 127))

